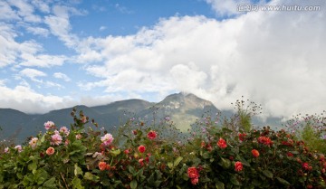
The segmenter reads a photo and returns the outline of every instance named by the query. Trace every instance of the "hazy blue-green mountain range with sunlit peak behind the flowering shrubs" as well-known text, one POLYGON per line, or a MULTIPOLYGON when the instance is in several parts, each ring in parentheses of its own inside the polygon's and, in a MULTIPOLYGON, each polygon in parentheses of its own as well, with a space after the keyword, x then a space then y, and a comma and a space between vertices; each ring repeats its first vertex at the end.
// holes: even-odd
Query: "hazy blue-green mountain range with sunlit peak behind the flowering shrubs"
MULTIPOLYGON (((212 102, 200 99, 191 93, 171 94, 158 103, 142 99, 126 99, 115 101, 107 105, 86 107, 77 106, 77 111, 89 118, 94 118, 100 128, 109 131, 124 124, 129 118, 142 118, 149 123, 161 118, 170 118, 181 131, 186 131, 201 118, 204 113, 216 115, 219 111, 212 102)), ((3 139, 16 138, 22 142, 26 137, 35 136, 39 131, 44 131, 43 123, 51 120, 57 127, 69 127, 72 123, 72 108, 57 109, 45 114, 30 115, 15 109, 0 109, 0 127, 3 129, 0 137, 3 139)), ((222 111, 225 116, 230 116, 231 111, 222 111)), ((269 122, 280 119, 270 119, 269 122)), ((254 119, 259 123, 259 119, 254 119)), ((264 124, 264 122, 260 122, 264 124)), ((273 124, 272 124, 273 125, 273 124)))

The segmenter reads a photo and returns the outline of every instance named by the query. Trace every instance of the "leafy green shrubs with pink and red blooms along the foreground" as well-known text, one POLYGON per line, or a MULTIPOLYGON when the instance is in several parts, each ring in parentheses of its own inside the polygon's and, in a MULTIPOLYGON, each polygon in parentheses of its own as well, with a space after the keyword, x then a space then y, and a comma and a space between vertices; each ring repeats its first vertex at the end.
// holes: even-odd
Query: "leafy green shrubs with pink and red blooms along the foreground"
POLYGON ((24 146, 4 147, 0 188, 326 187, 325 156, 284 130, 245 132, 205 118, 202 132, 182 140, 169 119, 157 127, 132 118, 111 135, 86 128, 82 112, 72 116, 70 129, 48 121, 24 146))

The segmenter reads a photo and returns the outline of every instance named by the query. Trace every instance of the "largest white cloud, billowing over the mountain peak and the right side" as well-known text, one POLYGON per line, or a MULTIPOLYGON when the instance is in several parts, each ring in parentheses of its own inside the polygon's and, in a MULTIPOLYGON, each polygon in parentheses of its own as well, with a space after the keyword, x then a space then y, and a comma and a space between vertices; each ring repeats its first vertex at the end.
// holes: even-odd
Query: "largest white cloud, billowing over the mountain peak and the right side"
POLYGON ((88 42, 106 61, 85 67, 100 80, 81 87, 136 94, 183 90, 219 109, 231 109, 244 95, 274 116, 321 112, 325 18, 320 11, 252 12, 221 22, 204 16, 162 19, 135 35, 88 42))

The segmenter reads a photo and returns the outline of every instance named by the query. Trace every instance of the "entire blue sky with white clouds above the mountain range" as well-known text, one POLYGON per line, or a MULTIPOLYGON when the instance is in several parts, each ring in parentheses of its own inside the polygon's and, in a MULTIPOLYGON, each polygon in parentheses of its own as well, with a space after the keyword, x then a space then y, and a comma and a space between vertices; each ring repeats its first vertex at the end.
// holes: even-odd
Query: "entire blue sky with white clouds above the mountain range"
POLYGON ((0 0, 0 13, 0 108, 183 91, 217 109, 244 96, 265 116, 326 109, 324 0, 0 0))

